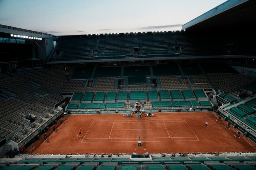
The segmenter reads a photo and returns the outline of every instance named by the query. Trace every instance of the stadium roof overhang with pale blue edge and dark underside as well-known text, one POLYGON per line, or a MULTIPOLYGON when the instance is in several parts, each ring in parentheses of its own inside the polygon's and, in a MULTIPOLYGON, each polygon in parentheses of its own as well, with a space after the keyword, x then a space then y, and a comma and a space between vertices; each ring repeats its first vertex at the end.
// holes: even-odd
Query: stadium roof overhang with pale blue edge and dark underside
POLYGON ((256 20, 255 0, 228 0, 182 25, 182 30, 246 30, 256 20))

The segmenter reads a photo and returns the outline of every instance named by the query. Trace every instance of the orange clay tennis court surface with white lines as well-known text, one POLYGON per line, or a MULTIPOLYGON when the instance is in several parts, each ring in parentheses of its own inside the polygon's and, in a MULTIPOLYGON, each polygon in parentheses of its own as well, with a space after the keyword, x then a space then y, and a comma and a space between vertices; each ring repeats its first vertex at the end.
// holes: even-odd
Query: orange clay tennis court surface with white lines
MULTIPOLYGON (((34 154, 84 154, 148 152, 256 152, 246 137, 235 138, 236 130, 216 121, 212 112, 153 113, 138 119, 123 114, 69 115, 50 135, 49 141, 27 149, 34 154), (208 121, 208 129, 205 127, 208 121), (81 138, 77 137, 82 129, 81 138), (140 135, 141 147, 138 147, 140 135)), ((50 129, 52 131, 52 128, 50 129)), ((39 140, 39 141, 40 141, 39 140)))

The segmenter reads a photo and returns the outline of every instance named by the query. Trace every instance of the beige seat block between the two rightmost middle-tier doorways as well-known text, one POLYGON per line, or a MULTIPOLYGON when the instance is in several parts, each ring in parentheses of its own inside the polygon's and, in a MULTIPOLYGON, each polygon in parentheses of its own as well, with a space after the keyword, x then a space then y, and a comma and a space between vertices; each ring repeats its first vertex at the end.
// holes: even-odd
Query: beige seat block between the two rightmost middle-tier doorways
POLYGON ((159 76, 161 82, 161 88, 159 90, 180 90, 180 89, 188 89, 186 84, 180 84, 177 76, 174 75, 166 75, 159 76))

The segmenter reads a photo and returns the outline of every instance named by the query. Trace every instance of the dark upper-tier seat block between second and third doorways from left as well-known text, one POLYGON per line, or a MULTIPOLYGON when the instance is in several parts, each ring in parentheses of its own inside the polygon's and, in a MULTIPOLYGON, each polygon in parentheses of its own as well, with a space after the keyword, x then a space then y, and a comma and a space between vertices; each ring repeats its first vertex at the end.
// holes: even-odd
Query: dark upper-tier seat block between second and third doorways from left
POLYGON ((104 53, 99 52, 98 56, 125 55, 130 53, 131 47, 134 47, 134 37, 132 35, 100 37, 98 49, 104 49, 102 50, 104 53))

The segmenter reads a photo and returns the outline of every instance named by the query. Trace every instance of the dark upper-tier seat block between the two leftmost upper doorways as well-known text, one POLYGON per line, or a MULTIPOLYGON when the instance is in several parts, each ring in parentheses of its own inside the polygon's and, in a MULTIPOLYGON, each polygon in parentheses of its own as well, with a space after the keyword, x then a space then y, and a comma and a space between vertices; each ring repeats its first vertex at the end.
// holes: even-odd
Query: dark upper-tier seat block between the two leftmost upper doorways
POLYGON ((55 60, 84 60, 90 59, 90 51, 95 48, 96 38, 68 38, 63 37, 57 44, 55 51, 62 51, 55 60))

